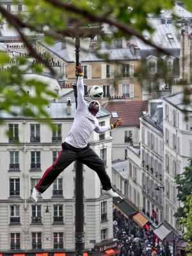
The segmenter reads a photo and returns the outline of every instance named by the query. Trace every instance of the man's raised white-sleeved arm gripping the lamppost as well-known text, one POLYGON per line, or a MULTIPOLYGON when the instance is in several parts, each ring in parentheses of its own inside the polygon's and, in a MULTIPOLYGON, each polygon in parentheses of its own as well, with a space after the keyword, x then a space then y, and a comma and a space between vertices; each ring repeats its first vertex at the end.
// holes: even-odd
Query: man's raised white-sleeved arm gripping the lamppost
POLYGON ((81 65, 77 66, 77 72, 78 72, 78 77, 77 77, 77 108, 85 108, 86 107, 86 102, 83 98, 84 96, 84 85, 83 85, 83 72, 81 65))

